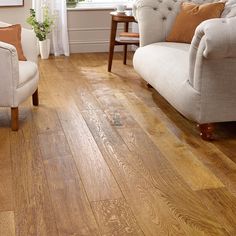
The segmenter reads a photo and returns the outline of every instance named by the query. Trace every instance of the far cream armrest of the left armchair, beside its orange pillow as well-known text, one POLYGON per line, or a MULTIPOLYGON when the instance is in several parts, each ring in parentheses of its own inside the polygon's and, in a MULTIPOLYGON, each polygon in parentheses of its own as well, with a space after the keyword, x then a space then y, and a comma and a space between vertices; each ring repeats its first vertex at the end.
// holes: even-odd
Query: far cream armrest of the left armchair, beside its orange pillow
POLYGON ((21 43, 25 57, 28 61, 38 63, 37 38, 33 30, 22 28, 21 43))

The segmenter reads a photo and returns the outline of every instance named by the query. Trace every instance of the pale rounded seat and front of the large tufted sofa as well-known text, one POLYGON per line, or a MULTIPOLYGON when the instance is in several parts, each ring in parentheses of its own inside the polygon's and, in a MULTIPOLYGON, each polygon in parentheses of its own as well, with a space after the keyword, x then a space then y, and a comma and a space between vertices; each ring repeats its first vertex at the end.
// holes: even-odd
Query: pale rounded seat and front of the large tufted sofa
POLYGON ((138 48, 133 63, 144 80, 178 111, 194 120, 200 96, 189 84, 189 49, 190 44, 154 43, 138 48))

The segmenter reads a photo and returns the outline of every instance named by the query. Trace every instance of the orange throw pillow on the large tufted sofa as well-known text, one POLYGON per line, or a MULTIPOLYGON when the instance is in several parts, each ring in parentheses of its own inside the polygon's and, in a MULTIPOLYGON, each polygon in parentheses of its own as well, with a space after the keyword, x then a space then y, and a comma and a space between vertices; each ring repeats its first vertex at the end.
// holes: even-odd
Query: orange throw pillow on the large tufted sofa
POLYGON ((184 2, 175 19, 173 28, 166 38, 167 42, 191 43, 197 26, 208 19, 219 18, 225 2, 197 5, 184 2))

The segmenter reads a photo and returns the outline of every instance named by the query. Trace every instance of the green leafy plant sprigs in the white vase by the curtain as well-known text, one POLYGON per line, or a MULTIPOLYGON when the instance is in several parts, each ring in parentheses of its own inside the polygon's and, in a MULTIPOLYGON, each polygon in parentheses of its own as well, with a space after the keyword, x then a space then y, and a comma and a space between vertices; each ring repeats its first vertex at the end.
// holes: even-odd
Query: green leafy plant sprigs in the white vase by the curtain
POLYGON ((49 14, 48 7, 44 6, 42 22, 37 21, 34 9, 30 9, 30 16, 27 18, 26 22, 32 26, 39 41, 44 41, 47 39, 47 35, 52 31, 54 17, 49 14))

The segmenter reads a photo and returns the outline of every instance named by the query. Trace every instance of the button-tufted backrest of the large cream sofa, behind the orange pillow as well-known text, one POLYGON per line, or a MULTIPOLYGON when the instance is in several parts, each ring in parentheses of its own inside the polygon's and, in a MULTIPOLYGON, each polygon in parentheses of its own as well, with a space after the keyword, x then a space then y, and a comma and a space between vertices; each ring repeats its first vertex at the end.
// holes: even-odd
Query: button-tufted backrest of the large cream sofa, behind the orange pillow
MULTIPOLYGON (((165 41, 184 0, 136 0, 133 11, 139 24, 140 45, 165 41)), ((189 0, 197 4, 217 0, 189 0)), ((228 0, 224 17, 236 15, 236 0, 228 0)))

